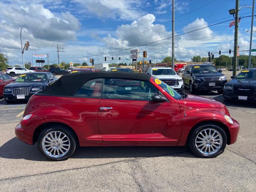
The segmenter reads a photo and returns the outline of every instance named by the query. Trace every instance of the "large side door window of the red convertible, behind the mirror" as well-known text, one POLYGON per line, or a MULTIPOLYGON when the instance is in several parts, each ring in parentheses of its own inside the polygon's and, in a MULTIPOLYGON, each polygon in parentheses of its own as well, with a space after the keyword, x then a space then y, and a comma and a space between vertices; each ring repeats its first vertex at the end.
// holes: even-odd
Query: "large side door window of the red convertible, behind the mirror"
POLYGON ((124 100, 152 100, 158 90, 150 82, 130 79, 104 79, 102 97, 124 100))

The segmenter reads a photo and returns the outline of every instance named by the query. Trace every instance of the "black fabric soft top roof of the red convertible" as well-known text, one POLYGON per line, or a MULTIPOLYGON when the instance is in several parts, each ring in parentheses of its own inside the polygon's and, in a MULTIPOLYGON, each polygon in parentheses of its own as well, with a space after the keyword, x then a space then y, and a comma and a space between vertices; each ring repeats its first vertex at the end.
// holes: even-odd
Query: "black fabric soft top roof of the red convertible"
POLYGON ((88 80, 97 78, 122 78, 149 81, 150 75, 129 72, 84 72, 67 74, 54 84, 40 91, 37 95, 74 96, 77 90, 88 80))

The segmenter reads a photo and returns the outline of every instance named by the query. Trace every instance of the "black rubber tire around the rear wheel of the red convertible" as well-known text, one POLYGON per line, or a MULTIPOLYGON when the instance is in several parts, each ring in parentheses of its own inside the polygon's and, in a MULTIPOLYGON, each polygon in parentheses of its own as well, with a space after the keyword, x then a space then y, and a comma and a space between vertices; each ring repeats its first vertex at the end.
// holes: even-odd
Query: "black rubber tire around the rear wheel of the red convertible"
POLYGON ((77 145, 77 142, 76 142, 75 134, 73 132, 71 132, 70 130, 68 130, 68 128, 66 128, 65 126, 61 126, 61 125, 52 125, 52 126, 49 126, 46 129, 44 129, 40 133, 40 135, 38 137, 38 142, 37 142, 38 149, 40 150, 42 155, 47 160, 51 160, 51 161, 67 160, 68 158, 70 158, 70 156, 72 156, 72 154, 76 150, 76 145, 77 145), (46 136, 46 134, 49 134, 50 132, 55 132, 55 131, 62 132, 69 139, 68 143, 70 144, 70 148, 69 148, 68 152, 64 156, 62 156, 62 157, 51 157, 48 154, 46 154, 46 152, 44 152, 43 147, 42 147, 42 140, 43 140, 44 136, 46 136))

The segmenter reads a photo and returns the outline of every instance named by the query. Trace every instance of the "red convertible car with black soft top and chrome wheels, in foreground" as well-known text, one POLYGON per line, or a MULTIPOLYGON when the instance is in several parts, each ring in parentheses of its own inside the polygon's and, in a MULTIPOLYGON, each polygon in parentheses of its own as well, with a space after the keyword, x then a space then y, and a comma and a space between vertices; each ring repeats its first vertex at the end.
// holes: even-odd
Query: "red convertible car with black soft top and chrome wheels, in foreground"
POLYGON ((15 128, 17 138, 37 142, 50 160, 69 158, 77 146, 187 145, 212 158, 236 142, 238 131, 224 104, 179 94, 148 74, 124 72, 62 76, 30 98, 15 128))

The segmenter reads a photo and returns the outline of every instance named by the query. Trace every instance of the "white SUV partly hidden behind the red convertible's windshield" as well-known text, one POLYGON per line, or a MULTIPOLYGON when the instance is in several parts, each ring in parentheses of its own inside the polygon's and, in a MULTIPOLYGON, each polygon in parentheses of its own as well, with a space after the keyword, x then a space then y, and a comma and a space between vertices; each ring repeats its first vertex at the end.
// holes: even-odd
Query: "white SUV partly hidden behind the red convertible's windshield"
POLYGON ((175 90, 182 89, 182 78, 170 67, 151 67, 146 73, 160 79, 175 90))

